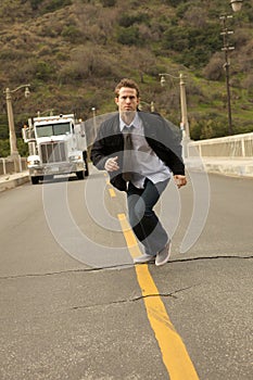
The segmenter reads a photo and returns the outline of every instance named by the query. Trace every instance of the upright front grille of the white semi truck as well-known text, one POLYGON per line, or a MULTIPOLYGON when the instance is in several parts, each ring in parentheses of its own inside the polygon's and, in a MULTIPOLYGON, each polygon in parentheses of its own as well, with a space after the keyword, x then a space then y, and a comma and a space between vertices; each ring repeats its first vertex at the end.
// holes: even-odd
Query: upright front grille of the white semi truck
POLYGON ((47 142, 40 144, 41 160, 43 164, 66 161, 64 142, 47 142))

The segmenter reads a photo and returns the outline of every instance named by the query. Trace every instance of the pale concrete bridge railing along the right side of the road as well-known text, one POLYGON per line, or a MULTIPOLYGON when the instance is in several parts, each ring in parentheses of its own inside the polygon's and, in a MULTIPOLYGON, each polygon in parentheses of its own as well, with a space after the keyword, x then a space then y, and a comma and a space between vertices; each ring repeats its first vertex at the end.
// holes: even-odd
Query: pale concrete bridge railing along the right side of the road
POLYGON ((191 141, 187 151, 188 157, 249 160, 253 157, 253 132, 191 141))

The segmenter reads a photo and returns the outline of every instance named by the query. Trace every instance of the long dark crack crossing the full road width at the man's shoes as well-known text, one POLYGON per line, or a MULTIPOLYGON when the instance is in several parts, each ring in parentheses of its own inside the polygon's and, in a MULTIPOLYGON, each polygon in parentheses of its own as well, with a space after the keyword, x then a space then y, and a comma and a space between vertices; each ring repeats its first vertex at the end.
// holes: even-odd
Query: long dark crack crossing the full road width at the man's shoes
MULTIPOLYGON (((173 259, 168 262, 167 264, 174 264, 174 263, 188 263, 188 262, 195 262, 195 261, 212 261, 212 259, 250 259, 253 258, 252 256, 237 256, 237 255, 230 255, 230 256, 206 256, 206 257, 189 257, 189 258, 178 258, 173 259)), ((131 268, 135 267, 135 264, 119 264, 119 265, 110 265, 110 266, 103 266, 103 267, 97 267, 97 268, 84 268, 84 269, 67 269, 67 270, 59 270, 59 271, 49 271, 43 274, 26 274, 26 275, 12 275, 12 276, 0 276, 0 280, 9 280, 9 279, 16 279, 16 278, 28 278, 28 277, 47 277, 47 276, 55 276, 55 275, 64 275, 64 274, 75 274, 75 273, 93 273, 93 271, 103 271, 107 269, 121 269, 121 268, 131 268)))

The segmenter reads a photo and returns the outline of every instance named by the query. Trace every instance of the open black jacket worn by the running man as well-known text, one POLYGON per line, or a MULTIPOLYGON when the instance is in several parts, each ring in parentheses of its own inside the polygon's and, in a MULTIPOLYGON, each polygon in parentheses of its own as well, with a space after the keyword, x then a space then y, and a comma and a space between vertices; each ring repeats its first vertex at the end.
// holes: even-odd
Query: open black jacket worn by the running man
MULTIPOLYGON (((181 159, 181 136, 179 128, 165 121, 159 114, 139 112, 143 123, 144 137, 155 152, 170 170, 185 175, 185 165, 181 159)), ((103 122, 91 149, 91 161, 100 170, 104 170, 107 159, 118 156, 118 166, 123 167, 124 137, 119 129, 118 114, 103 122)), ((111 172, 110 181, 118 190, 126 190, 126 182, 122 177, 122 169, 111 172)))

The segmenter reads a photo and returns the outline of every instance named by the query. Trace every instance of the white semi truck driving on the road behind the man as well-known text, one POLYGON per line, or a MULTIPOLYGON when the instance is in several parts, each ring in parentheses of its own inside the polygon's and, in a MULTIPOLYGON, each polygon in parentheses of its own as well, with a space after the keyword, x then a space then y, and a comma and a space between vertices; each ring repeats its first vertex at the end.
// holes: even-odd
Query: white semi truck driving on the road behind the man
POLYGON ((33 185, 54 176, 89 175, 85 123, 74 114, 34 117, 22 129, 28 143, 27 167, 33 185))

